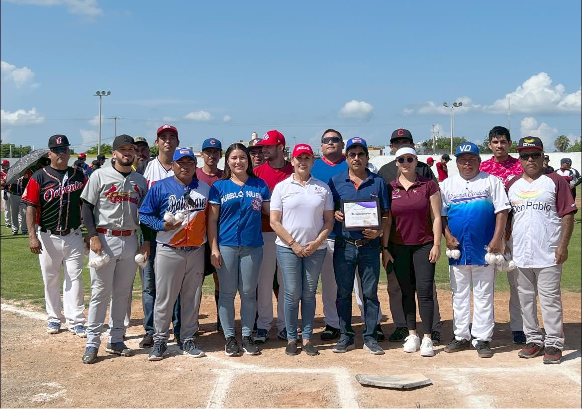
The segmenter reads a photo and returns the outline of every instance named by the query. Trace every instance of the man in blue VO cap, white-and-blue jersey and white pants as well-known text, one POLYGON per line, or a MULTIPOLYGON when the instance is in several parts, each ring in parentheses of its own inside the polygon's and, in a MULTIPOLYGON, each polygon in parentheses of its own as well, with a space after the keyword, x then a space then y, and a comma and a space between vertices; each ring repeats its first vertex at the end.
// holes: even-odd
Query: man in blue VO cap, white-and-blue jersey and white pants
POLYGON ((477 145, 462 143, 455 156, 459 174, 441 183, 446 246, 460 251, 460 259, 449 258, 455 337, 446 345, 445 352, 469 348, 472 334, 478 356, 491 358, 493 351, 489 342, 495 327, 495 265, 485 262, 485 254, 488 251, 502 252, 509 200, 498 178, 479 171, 481 157, 477 145), (473 327, 469 330, 471 281, 473 327))

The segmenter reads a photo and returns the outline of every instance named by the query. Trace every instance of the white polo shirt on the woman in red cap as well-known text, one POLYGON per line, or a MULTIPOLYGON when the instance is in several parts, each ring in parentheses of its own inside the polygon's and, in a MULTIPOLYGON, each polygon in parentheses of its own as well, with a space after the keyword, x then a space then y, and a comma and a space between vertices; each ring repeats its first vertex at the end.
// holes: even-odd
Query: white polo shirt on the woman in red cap
MULTIPOLYGON (((333 210, 333 199, 329 186, 320 179, 310 178, 305 186, 293 176, 275 185, 271 194, 271 210, 282 212, 281 224, 299 243, 305 245, 315 240, 324 225, 324 211, 333 210)), ((277 237, 275 244, 289 247, 277 237)), ((319 249, 326 248, 323 243, 319 249)))

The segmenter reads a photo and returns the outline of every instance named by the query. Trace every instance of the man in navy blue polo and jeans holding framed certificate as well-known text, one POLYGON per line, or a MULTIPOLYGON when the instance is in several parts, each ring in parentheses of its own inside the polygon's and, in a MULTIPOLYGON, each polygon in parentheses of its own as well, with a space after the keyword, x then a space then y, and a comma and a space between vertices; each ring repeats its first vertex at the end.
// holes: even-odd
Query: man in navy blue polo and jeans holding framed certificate
POLYGON ((390 211, 388 190, 384 179, 370 172, 368 146, 361 137, 353 137, 346 143, 347 171, 335 175, 329 181, 329 188, 335 202, 335 249, 333 269, 335 270, 338 295, 336 308, 339 315, 341 336, 333 352, 347 352, 355 348, 352 329, 352 291, 356 267, 360 275, 364 301, 364 349, 371 354, 384 354, 384 350, 374 338, 374 327, 378 319, 378 278, 380 274, 380 248, 388 245, 390 211), (377 199, 382 215, 382 230, 349 230, 342 227, 342 200, 377 199))

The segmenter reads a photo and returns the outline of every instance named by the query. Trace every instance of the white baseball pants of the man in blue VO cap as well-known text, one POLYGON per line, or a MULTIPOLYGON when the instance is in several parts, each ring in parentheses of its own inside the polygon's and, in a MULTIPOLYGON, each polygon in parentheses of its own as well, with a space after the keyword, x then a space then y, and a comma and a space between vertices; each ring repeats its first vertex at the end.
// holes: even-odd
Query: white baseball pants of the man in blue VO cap
POLYGON ((450 266, 453 292, 453 332, 457 340, 491 341, 495 327, 493 298, 494 266, 450 266), (473 281, 473 327, 471 323, 471 280, 473 281))

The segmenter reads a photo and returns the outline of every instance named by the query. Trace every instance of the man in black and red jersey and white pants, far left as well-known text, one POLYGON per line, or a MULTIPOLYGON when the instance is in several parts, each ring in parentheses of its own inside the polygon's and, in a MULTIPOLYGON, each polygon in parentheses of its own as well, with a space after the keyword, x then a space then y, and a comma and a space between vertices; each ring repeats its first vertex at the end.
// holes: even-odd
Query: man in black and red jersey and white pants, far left
POLYGON ((53 135, 48 140, 51 164, 32 175, 22 196, 26 204, 30 251, 38 254, 48 315, 47 333, 56 334, 65 320, 69 331, 85 336, 83 300, 83 238, 80 196, 87 178, 69 167, 69 140, 53 135), (59 289, 63 267, 63 312, 59 289))

